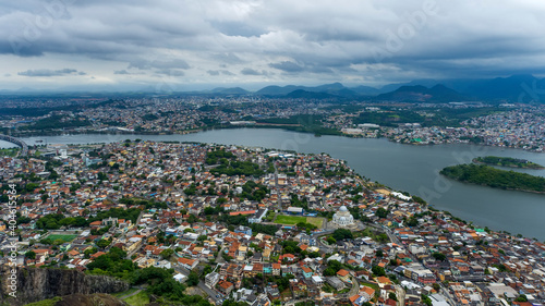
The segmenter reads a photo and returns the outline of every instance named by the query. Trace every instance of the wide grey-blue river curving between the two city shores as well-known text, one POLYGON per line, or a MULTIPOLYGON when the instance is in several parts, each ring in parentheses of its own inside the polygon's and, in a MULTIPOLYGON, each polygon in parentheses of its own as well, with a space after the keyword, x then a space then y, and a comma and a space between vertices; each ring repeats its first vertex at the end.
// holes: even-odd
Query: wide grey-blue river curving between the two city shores
MULTIPOLYGON (((421 196, 435 208, 493 230, 545 240, 545 195, 462 184, 438 174, 444 167, 477 156, 505 156, 545 164, 545 154, 474 145, 410 146, 386 139, 315 137, 276 128, 214 130, 187 135, 64 135, 23 138, 28 145, 110 143, 126 138, 258 146, 299 152, 327 152, 362 176, 421 196)), ((1 146, 1 144, 0 144, 1 146)), ((545 170, 517 170, 545 176, 545 170)))

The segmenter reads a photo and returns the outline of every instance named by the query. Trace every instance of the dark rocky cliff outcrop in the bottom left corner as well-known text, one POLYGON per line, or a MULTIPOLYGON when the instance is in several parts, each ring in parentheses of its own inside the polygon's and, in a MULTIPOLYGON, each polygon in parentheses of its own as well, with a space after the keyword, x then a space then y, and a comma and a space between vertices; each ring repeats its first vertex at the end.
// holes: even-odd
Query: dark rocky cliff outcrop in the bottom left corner
POLYGON ((116 293, 130 287, 125 281, 107 276, 85 274, 77 270, 20 268, 16 273, 16 298, 13 298, 8 295, 11 292, 8 287, 8 269, 1 268, 0 276, 0 305, 19 306, 55 296, 116 293))

